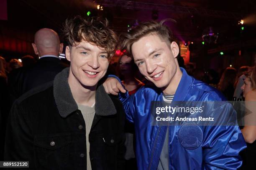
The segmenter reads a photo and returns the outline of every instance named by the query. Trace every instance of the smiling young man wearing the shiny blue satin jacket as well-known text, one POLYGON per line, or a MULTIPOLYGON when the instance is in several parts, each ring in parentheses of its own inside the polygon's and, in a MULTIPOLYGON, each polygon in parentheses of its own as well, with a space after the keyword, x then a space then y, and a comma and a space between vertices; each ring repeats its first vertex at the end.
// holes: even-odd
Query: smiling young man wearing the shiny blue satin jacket
MULTIPOLYGON (((229 103, 221 102, 225 98, 217 90, 195 80, 179 67, 179 45, 171 30, 163 22, 142 23, 126 34, 123 49, 133 56, 141 74, 155 85, 141 87, 135 95, 128 96, 127 92, 119 95, 127 119, 134 122, 138 169, 234 170, 240 167, 239 152, 246 144, 239 127, 229 122, 236 113, 229 103), (205 104, 201 114, 191 113, 184 118, 192 120, 197 115, 210 115, 219 122, 205 125, 205 122, 187 119, 161 125, 154 120, 158 113, 152 109, 152 101, 171 102, 172 107, 179 102, 189 106, 205 104)), ((105 82, 105 90, 115 95, 119 90, 125 92, 113 77, 105 82)), ((182 117, 180 112, 174 115, 182 117)))

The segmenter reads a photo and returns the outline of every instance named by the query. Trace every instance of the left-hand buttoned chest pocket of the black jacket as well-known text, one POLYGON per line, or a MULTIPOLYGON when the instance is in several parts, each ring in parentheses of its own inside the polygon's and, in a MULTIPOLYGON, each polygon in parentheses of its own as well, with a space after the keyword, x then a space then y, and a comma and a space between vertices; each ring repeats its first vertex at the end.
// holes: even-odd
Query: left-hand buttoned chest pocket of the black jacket
POLYGON ((70 143, 70 133, 36 135, 34 145, 39 167, 46 169, 66 167, 69 160, 70 143))

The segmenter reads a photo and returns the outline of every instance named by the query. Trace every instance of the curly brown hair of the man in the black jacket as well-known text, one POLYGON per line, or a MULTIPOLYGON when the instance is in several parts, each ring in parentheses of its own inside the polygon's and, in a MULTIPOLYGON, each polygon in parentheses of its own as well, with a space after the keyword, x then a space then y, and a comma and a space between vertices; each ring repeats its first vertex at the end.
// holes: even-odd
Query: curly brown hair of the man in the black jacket
POLYGON ((118 43, 118 38, 115 32, 110 30, 107 19, 86 19, 79 15, 68 18, 64 23, 63 34, 69 46, 77 46, 84 40, 106 50, 109 59, 114 55, 118 43))

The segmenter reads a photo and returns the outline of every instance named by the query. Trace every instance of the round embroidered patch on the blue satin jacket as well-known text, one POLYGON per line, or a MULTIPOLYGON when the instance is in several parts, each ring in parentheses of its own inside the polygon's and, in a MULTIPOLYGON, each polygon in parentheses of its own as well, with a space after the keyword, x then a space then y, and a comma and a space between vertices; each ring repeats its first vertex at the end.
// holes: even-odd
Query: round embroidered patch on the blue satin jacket
POLYGON ((186 149, 196 149, 202 144, 202 130, 194 123, 185 123, 178 132, 179 143, 186 149))

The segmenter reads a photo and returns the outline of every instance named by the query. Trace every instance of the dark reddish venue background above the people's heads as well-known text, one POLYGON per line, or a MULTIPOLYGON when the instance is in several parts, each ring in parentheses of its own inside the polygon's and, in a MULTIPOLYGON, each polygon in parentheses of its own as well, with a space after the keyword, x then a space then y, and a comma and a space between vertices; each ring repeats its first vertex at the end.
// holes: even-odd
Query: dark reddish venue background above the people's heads
MULTIPOLYGON (((0 0, 4 2, 6 0, 0 0)), ((34 33, 51 28, 59 33, 72 15, 106 17, 117 33, 134 23, 172 18, 167 22, 174 36, 189 45, 190 62, 197 68, 220 72, 232 65, 254 65, 256 55, 255 0, 7 0, 7 20, 0 20, 0 55, 10 60, 33 55, 34 33), (102 5, 103 10, 97 10, 102 5), (244 30, 238 21, 243 19, 244 30), (212 27, 216 43, 202 45, 205 29, 212 27), (220 52, 224 55, 220 55, 220 52), (241 55, 239 55, 241 51, 241 55)), ((206 31, 207 32, 207 31, 206 31)), ((61 38, 61 41, 63 39, 61 38)))

